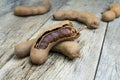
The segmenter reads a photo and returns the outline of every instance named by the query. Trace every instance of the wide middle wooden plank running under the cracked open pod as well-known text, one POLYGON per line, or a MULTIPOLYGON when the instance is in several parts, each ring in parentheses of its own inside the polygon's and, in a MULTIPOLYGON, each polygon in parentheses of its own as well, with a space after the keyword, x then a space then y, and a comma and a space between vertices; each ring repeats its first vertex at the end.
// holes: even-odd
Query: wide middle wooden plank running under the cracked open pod
MULTIPOLYGON (((69 0, 61 9, 75 9, 78 11, 89 11, 101 18, 101 12, 104 11, 109 1, 104 0, 69 0), (104 3, 103 3, 104 2, 104 3), (101 6, 102 5, 102 6, 101 6)), ((58 21, 52 20, 52 17, 32 36, 35 37, 44 29, 58 21)), ((80 27, 80 23, 75 23, 80 27)), ((101 22, 99 29, 84 30, 81 37, 76 41, 81 46, 81 58, 69 60, 61 54, 51 53, 48 60, 43 65, 32 65, 29 57, 17 59, 13 56, 1 69, 0 79, 2 80, 93 80, 100 50, 106 30, 106 23, 101 22), (12 67, 10 67, 12 66, 12 67), (19 76, 19 77, 18 77, 19 76)), ((27 35, 23 35, 27 36, 27 35)), ((26 39, 24 37, 24 39, 26 39)), ((21 37, 22 38, 22 37, 21 37)), ((14 42, 14 41, 13 41, 14 42)), ((10 53, 13 51, 10 49, 10 53)))

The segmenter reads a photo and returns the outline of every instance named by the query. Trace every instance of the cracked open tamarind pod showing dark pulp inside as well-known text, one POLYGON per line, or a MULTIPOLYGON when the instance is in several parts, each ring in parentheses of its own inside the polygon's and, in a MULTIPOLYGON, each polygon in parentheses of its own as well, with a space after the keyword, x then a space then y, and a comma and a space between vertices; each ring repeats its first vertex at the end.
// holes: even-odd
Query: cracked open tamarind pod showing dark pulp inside
POLYGON ((48 52, 57 43, 64 40, 78 38, 80 33, 70 21, 63 21, 51 26, 38 36, 30 52, 30 59, 34 64, 42 64, 47 60, 48 52))

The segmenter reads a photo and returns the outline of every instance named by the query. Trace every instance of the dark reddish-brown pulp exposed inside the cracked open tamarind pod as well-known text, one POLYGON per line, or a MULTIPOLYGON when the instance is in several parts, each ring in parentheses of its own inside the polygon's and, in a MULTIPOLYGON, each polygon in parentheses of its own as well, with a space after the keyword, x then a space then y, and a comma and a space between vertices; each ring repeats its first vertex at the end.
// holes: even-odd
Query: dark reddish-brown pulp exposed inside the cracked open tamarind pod
POLYGON ((37 43, 38 49, 45 49, 53 41, 57 41, 59 38, 69 37, 72 34, 71 29, 66 27, 60 30, 53 31, 52 33, 45 36, 39 43, 37 43))

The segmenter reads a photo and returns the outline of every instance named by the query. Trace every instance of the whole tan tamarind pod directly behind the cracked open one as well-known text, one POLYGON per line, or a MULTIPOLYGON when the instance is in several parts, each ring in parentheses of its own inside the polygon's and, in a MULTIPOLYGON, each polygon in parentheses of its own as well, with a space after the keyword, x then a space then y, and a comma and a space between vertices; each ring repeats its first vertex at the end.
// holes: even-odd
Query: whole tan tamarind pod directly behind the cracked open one
POLYGON ((89 12, 78 12, 75 10, 58 10, 53 14, 56 20, 77 20, 87 25, 88 28, 98 28, 99 19, 89 12))

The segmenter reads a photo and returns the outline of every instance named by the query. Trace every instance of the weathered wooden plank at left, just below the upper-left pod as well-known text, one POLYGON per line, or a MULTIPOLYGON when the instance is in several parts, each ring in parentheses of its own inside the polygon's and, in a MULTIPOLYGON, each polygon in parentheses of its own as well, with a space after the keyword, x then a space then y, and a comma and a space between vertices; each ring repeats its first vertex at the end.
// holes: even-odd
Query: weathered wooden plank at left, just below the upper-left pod
POLYGON ((66 0, 51 0, 53 8, 45 15, 17 17, 11 12, 0 17, 0 68, 13 55, 14 45, 30 38, 65 2, 66 0))

